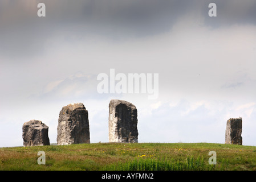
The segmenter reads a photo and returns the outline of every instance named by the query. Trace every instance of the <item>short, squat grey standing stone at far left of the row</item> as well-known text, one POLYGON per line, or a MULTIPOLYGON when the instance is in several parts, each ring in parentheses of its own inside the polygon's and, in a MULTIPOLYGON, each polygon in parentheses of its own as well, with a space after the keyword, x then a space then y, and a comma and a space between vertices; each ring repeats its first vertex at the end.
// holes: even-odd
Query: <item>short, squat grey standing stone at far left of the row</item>
POLYGON ((48 126, 42 121, 30 120, 22 126, 23 146, 50 145, 48 126))

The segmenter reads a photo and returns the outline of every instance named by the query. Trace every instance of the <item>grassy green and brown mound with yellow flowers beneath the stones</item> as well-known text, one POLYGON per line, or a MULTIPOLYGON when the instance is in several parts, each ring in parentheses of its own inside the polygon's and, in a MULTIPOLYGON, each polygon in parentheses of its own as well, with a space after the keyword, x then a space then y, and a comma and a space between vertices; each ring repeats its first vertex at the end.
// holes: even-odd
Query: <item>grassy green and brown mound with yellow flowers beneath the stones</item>
POLYGON ((256 147, 217 143, 92 143, 0 148, 0 170, 256 170, 256 147), (39 165, 38 151, 46 154, 39 165), (210 165, 209 151, 217 164, 210 165))

